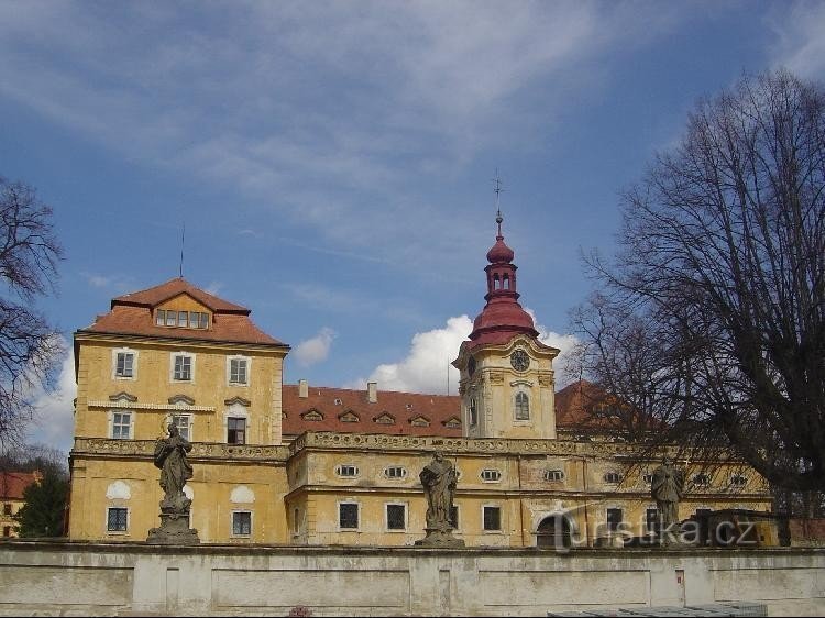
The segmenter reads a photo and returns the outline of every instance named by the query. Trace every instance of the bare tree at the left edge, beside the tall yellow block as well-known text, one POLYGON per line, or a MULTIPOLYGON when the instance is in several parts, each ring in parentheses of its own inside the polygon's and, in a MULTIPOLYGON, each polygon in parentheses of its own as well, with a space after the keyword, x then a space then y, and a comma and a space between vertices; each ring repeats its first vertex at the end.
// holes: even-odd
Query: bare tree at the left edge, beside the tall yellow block
POLYGON ((34 308, 53 294, 63 249, 52 209, 31 187, 0 177, 0 445, 19 444, 36 386, 54 385, 61 338, 34 308))

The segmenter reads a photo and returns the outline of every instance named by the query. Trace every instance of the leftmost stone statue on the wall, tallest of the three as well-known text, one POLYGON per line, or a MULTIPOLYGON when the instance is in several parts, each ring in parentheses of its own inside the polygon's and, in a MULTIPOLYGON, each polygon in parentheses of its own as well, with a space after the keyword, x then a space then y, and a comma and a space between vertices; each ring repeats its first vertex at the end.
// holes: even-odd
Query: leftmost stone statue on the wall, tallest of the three
POLYGON ((199 543, 197 530, 189 528, 189 507, 184 486, 193 477, 191 464, 186 454, 191 444, 178 432, 174 422, 168 424, 168 438, 155 442, 155 467, 161 468, 161 527, 148 531, 150 542, 167 544, 199 543))

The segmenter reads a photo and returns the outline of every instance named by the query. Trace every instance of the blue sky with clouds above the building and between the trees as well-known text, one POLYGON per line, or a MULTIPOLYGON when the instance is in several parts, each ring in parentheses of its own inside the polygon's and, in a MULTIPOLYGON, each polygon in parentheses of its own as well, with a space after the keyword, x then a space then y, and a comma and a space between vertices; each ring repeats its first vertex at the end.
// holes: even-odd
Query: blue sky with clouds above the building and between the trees
MULTIPOLYGON (((177 276, 185 223, 185 277, 293 346, 286 382, 444 393, 496 168, 565 349, 619 192, 743 73, 823 79, 825 2, 3 1, 0 58, 0 175, 54 208, 67 341, 177 276)), ((61 448, 65 366, 32 433, 61 448)))

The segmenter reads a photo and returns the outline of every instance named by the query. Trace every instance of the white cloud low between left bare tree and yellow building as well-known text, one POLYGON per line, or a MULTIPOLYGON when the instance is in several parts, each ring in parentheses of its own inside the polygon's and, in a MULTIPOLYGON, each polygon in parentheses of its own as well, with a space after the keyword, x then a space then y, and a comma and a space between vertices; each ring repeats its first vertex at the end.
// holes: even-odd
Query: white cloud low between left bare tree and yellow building
POLYGON ((75 355, 72 345, 66 344, 61 374, 55 389, 44 391, 38 388, 33 397, 35 411, 28 428, 30 443, 43 443, 65 453, 72 449, 75 432, 75 405, 77 384, 75 383, 75 355))

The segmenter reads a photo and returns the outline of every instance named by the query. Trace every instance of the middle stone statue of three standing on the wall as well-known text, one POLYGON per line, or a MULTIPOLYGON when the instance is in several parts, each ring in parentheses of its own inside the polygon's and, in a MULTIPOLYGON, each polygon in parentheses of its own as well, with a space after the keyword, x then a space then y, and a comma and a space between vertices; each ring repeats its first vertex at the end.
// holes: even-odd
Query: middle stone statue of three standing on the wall
POLYGON ((419 478, 427 496, 427 536, 416 541, 416 544, 464 547, 464 541, 452 536, 453 526, 450 521, 459 478, 455 467, 441 453, 436 452, 419 478))

